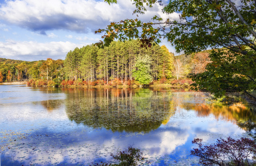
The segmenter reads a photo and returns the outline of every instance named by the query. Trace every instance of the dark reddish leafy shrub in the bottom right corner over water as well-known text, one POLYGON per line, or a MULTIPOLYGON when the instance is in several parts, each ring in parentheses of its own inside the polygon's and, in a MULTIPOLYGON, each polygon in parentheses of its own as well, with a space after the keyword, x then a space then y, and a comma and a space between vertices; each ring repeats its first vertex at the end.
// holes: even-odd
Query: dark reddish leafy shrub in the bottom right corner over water
POLYGON ((203 146, 202 139, 196 138, 192 143, 198 148, 193 148, 191 155, 200 157, 202 165, 255 165, 256 143, 249 138, 227 140, 220 138, 217 143, 203 146))

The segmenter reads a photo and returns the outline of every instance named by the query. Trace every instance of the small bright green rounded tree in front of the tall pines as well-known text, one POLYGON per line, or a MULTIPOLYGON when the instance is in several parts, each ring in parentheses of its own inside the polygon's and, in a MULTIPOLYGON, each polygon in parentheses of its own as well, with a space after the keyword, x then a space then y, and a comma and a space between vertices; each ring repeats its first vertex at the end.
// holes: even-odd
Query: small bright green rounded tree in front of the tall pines
POLYGON ((153 81, 151 75, 150 65, 152 60, 149 55, 144 55, 139 57, 135 64, 135 70, 133 71, 133 77, 136 81, 139 81, 140 84, 145 85, 153 81))

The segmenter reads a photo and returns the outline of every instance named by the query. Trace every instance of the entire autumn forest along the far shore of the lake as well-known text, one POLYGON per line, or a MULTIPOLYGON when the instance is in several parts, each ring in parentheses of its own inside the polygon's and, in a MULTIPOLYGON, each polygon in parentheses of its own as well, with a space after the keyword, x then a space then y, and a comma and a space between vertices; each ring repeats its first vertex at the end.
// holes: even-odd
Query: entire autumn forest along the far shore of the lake
POLYGON ((30 86, 191 84, 190 72, 203 72, 209 51, 174 56, 166 46, 142 47, 139 40, 71 50, 65 60, 21 61, 0 58, 0 82, 30 86))

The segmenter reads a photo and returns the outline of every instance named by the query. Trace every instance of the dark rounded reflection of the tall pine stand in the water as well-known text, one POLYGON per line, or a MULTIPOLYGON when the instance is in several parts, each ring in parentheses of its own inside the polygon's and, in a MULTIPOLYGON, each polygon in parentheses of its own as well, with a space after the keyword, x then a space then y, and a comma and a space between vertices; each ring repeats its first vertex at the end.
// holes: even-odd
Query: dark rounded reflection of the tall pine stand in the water
POLYGON ((70 120, 93 128, 149 132, 174 115, 170 92, 149 89, 69 89, 65 101, 70 120))

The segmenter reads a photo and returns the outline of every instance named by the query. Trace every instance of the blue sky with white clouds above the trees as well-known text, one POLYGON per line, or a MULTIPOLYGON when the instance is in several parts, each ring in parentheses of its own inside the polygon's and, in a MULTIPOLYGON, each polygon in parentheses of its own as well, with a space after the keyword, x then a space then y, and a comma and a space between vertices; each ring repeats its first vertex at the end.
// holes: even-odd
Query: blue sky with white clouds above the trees
MULTIPOLYGON (((178 13, 163 14, 162 8, 155 4, 139 19, 179 18, 178 13)), ((95 34, 96 30, 137 17, 132 14, 134 9, 130 0, 111 5, 103 0, 0 0, 0 58, 64 60, 68 51, 102 40, 104 34, 95 34)), ((167 41, 160 45, 175 53, 167 41)))

